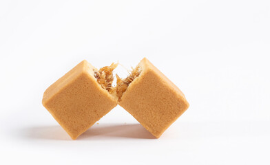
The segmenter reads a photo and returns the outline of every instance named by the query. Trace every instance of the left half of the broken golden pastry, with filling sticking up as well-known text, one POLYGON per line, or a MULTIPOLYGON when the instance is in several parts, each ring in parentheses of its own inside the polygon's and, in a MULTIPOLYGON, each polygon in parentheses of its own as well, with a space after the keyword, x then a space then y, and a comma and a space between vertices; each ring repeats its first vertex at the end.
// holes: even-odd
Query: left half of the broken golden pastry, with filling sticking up
POLYGON ((98 70, 82 61, 43 94, 44 107, 73 140, 116 107, 112 87, 116 66, 112 63, 98 70))

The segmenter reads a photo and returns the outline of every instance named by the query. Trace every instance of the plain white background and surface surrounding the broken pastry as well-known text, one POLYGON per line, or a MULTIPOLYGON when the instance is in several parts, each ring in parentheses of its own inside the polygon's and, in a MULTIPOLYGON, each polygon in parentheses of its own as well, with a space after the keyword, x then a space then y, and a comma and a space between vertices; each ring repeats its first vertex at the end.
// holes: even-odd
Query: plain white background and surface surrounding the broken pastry
POLYGON ((269 56, 269 0, 1 0, 0 164, 270 164, 269 56), (73 141, 41 104, 83 59, 143 57, 190 103, 159 139, 116 107, 73 141))

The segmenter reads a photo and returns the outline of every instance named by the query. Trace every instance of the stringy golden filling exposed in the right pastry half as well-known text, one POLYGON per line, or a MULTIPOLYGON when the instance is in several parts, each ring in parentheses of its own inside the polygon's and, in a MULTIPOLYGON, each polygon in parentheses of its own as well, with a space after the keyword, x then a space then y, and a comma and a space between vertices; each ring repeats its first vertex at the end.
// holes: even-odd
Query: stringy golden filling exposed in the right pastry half
POLYGON ((137 66, 135 69, 132 69, 132 72, 130 72, 129 76, 127 76, 127 78, 125 79, 120 78, 116 74, 117 82, 116 82, 115 91, 116 91, 116 96, 118 97, 119 100, 121 100, 121 97, 127 90, 127 87, 129 86, 129 84, 132 83, 132 81, 135 78, 137 78, 140 74, 141 74, 141 67, 139 66, 137 66))

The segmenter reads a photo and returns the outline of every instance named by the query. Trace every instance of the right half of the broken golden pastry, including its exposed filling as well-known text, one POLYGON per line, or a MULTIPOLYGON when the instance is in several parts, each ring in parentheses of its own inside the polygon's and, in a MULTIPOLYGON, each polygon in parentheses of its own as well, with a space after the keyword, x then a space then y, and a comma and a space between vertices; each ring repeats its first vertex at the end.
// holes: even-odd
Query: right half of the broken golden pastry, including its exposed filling
POLYGON ((147 58, 125 79, 117 76, 118 104, 155 137, 182 115, 189 103, 174 83, 147 58))

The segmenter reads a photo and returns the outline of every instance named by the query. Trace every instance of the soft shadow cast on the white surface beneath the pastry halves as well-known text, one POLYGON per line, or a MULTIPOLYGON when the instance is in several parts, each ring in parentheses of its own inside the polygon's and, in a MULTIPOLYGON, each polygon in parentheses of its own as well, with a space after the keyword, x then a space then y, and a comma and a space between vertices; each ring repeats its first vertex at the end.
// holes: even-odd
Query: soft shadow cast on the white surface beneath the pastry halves
MULTIPOLYGON (((25 135, 32 139, 71 140, 61 126, 37 126, 25 130, 25 135)), ((155 139, 141 124, 94 124, 77 140, 136 138, 155 139)))

